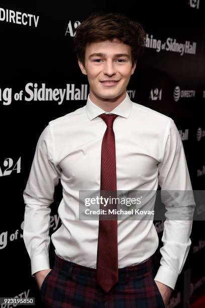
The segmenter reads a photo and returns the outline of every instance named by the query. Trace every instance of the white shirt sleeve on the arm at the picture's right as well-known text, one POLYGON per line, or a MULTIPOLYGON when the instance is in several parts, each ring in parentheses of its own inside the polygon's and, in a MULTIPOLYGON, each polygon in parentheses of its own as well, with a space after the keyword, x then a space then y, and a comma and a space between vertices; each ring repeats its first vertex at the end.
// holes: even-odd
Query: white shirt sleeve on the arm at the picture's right
POLYGON ((172 119, 165 131, 164 143, 163 160, 158 164, 158 183, 161 186, 161 201, 167 212, 163 247, 160 248, 162 258, 154 279, 174 289, 191 245, 189 237, 195 202, 183 144, 172 119), (178 197, 170 198, 171 192, 178 197))

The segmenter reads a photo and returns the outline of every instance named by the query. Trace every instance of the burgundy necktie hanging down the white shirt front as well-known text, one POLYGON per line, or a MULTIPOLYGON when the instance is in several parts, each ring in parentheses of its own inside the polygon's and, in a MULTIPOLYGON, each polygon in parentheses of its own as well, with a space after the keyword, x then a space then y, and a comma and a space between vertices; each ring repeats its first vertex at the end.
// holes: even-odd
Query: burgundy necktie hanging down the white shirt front
MULTIPOLYGON (((118 115, 101 114, 99 117, 107 124, 101 146, 100 196, 116 198, 116 150, 113 123, 118 115)), ((110 206, 104 207, 100 203, 99 208, 108 211, 110 206)), ((112 209, 115 208, 117 209, 117 204, 112 204, 112 209)), ((109 217, 108 214, 103 216, 106 219, 109 217)), ((118 220, 116 215, 112 215, 110 220, 102 220, 100 217, 99 215, 96 282, 108 292, 118 282, 118 220)))

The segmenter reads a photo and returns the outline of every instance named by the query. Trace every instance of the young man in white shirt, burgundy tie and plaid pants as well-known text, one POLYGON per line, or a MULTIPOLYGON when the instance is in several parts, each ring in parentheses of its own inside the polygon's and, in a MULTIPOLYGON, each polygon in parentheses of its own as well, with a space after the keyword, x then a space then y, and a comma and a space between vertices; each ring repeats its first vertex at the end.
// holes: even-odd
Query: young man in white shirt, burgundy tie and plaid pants
MULTIPOLYGON (((192 221, 166 220, 158 247, 153 220, 80 220, 79 191, 191 190, 174 121, 134 103, 127 86, 145 31, 117 13, 93 13, 76 29, 74 47, 87 75, 84 107, 49 122, 24 191, 24 241, 47 307, 164 307, 190 247, 192 221), (50 204, 59 179, 60 228, 51 236, 50 204)), ((101 205, 100 205, 101 206, 101 205)), ((193 204, 187 204, 192 210, 193 204)))

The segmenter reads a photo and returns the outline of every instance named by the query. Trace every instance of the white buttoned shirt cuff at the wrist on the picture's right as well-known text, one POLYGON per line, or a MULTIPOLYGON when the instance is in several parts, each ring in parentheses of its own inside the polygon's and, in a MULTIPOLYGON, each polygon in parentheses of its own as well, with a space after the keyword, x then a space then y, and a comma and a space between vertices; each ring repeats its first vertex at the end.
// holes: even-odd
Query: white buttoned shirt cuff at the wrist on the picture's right
POLYGON ((154 280, 164 283, 174 290, 177 278, 177 272, 171 268, 160 265, 154 280))

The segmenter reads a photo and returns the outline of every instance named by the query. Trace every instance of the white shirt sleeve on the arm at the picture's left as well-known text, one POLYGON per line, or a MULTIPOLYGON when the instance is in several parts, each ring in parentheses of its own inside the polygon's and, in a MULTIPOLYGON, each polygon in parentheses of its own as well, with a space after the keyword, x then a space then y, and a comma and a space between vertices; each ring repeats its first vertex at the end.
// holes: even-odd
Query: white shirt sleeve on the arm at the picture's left
POLYGON ((54 143, 51 124, 41 133, 37 142, 26 188, 23 239, 31 259, 31 274, 49 269, 50 204, 61 170, 54 162, 54 143))

